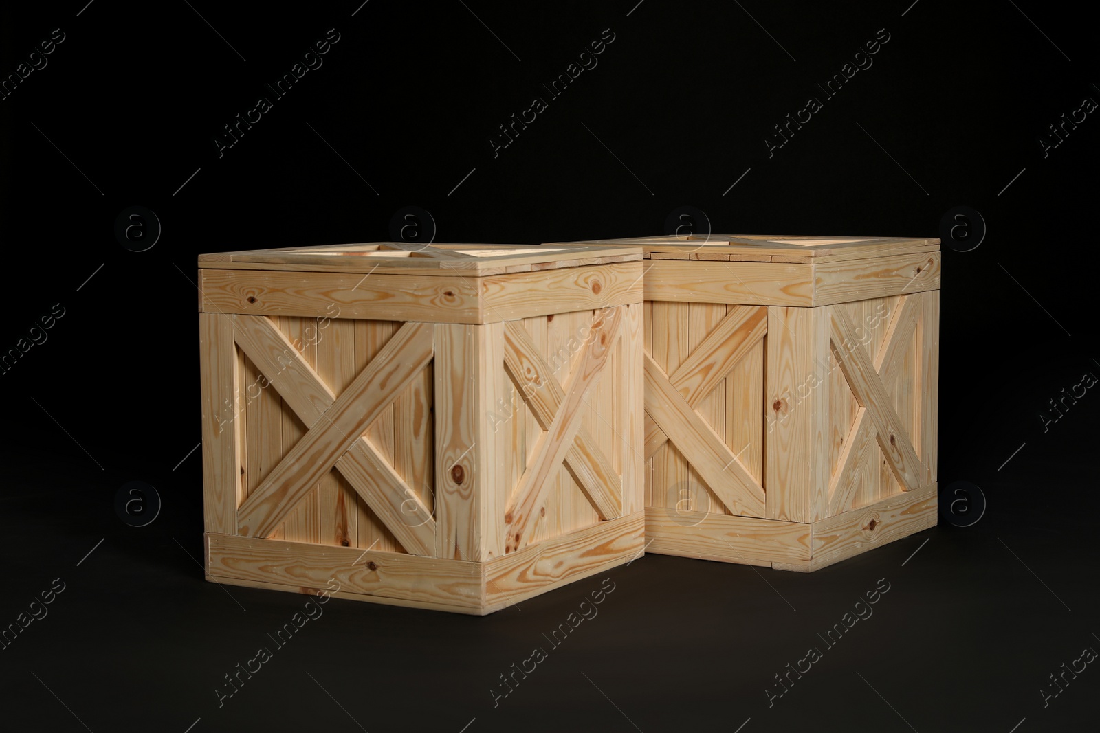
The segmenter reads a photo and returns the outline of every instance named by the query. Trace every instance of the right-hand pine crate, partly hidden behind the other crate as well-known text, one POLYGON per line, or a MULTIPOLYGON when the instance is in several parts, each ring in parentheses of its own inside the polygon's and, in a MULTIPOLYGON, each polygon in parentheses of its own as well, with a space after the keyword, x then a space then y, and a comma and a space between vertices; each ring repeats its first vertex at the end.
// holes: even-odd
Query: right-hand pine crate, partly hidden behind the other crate
POLYGON ((647 552, 805 571, 936 523, 939 240, 586 244, 646 252, 647 552))

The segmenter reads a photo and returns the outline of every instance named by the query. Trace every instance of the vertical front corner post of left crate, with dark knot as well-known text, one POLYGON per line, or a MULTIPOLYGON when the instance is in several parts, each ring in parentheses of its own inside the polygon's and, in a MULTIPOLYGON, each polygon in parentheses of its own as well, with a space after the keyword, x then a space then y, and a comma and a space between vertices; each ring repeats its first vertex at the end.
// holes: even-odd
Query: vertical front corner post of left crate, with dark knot
POLYGON ((436 556, 484 562, 505 552, 503 467, 487 407, 503 397, 503 326, 435 326, 436 556))

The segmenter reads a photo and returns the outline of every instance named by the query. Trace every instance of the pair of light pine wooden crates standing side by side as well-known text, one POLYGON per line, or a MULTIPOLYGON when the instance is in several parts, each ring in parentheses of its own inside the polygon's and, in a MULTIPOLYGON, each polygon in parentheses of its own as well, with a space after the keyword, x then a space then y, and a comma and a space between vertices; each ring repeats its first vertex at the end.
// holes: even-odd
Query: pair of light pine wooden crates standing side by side
POLYGON ((206 573, 484 614, 936 522, 938 240, 199 257, 206 573))

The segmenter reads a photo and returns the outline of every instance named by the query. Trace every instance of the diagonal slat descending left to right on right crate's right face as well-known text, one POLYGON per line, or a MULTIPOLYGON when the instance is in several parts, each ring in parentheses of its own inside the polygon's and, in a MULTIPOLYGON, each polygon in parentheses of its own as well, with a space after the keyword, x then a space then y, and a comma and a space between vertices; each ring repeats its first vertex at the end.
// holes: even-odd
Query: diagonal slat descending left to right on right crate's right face
POLYGON ((887 463, 893 469, 902 489, 911 491, 919 488, 923 482, 921 460, 905 431, 902 430, 901 420, 890 402, 890 396, 882 387, 878 371, 868 358, 867 352, 859 346, 851 321, 843 308, 836 307, 831 309, 831 320, 833 354, 856 400, 867 408, 887 463))

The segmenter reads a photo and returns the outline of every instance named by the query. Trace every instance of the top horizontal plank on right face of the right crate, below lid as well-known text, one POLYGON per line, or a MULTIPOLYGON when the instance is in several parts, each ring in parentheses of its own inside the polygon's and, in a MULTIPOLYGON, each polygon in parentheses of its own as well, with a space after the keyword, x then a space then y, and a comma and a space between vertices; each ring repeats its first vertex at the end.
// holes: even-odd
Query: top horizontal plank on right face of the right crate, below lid
POLYGON ((815 264, 813 304, 829 306, 938 290, 939 274, 938 252, 815 264))

